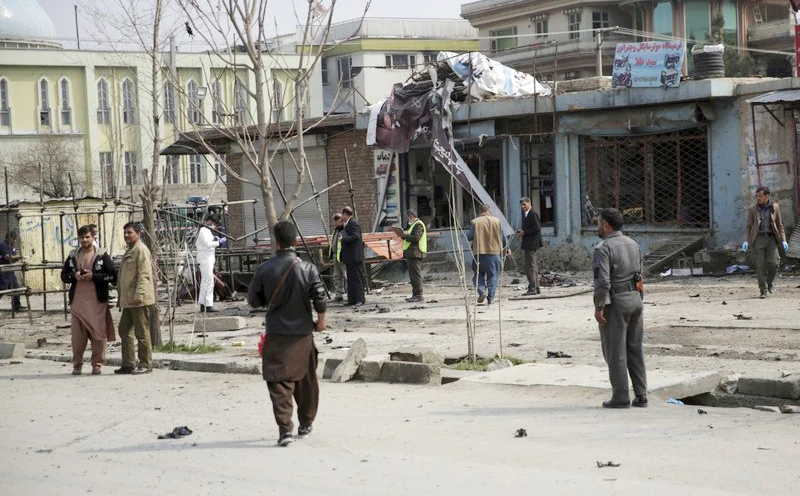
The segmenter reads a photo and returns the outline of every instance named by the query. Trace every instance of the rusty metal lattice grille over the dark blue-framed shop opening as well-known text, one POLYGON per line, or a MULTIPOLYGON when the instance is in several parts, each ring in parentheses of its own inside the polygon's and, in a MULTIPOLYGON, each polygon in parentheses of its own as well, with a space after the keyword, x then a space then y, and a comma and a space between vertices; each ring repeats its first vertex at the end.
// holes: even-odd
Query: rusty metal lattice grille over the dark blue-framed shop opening
MULTIPOLYGON (((585 137, 583 192, 596 207, 616 207, 626 224, 707 227, 706 127, 649 136, 585 137)), ((584 213, 584 224, 593 219, 584 213)))

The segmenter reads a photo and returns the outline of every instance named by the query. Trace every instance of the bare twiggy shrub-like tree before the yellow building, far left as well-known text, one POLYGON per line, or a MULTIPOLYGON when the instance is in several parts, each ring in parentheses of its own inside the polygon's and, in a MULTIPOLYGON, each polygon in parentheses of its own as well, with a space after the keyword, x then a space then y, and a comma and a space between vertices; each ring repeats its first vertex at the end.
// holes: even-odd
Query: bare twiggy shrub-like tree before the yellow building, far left
POLYGON ((83 196, 86 172, 78 160, 84 154, 78 143, 68 137, 45 134, 11 155, 14 174, 11 179, 49 198, 83 196), (70 187, 70 177, 75 191, 70 187))

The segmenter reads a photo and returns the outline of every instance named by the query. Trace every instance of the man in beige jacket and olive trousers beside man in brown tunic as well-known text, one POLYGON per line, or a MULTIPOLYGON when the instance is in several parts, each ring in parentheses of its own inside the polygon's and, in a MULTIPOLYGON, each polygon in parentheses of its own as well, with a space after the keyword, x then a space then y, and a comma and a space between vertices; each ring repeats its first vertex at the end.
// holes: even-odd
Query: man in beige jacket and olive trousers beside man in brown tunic
POLYGON ((119 270, 119 337, 122 343, 122 367, 115 374, 147 374, 153 371, 153 347, 150 343, 150 306, 155 305, 153 261, 150 250, 139 239, 142 225, 128 222, 123 227, 128 248, 122 255, 119 270), (139 343, 139 364, 134 370, 133 337, 139 343))

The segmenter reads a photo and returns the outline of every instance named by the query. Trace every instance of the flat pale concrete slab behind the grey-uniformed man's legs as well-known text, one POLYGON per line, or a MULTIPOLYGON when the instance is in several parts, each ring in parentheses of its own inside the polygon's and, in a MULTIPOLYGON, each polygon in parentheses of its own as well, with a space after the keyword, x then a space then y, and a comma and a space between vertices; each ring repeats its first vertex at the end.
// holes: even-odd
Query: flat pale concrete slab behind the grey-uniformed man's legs
MULTIPOLYGON (((717 372, 684 372, 648 370, 649 394, 658 397, 683 398, 707 393, 719 383, 717 372), (677 395, 677 396, 676 396, 677 395)), ((483 372, 461 381, 516 386, 577 386, 610 389, 605 367, 576 364, 524 363, 515 367, 483 372)))

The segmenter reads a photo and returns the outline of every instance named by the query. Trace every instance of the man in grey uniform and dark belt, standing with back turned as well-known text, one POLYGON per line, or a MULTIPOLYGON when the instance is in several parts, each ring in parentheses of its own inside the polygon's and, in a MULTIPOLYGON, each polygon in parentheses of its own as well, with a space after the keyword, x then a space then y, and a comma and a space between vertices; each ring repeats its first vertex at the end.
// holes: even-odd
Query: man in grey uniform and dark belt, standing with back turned
POLYGON ((611 400, 604 408, 647 406, 647 376, 642 341, 642 252, 625 236, 622 214, 604 209, 597 218, 603 240, 594 249, 594 318, 600 326, 603 357, 608 364, 611 400), (630 401, 628 374, 636 396, 630 401))

